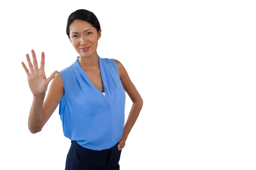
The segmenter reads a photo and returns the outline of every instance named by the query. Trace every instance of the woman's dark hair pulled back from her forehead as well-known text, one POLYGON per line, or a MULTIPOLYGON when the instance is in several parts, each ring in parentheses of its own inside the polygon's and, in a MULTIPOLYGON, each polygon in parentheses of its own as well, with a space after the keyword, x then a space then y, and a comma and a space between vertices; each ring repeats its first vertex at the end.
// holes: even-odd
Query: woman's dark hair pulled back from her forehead
POLYGON ((70 16, 67 19, 67 29, 66 33, 68 38, 70 38, 70 24, 74 22, 74 20, 84 20, 87 23, 90 23, 94 28, 96 28, 97 32, 99 32, 100 25, 99 20, 93 14, 93 12, 88 11, 86 9, 78 9, 70 14, 70 16))

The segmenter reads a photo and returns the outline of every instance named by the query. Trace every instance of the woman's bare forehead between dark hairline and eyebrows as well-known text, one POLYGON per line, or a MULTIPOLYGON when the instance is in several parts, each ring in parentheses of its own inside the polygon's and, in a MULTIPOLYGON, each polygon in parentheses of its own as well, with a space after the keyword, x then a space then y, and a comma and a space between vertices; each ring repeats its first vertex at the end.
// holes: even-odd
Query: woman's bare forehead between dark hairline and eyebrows
POLYGON ((87 23, 84 20, 74 20, 70 24, 70 33, 71 32, 83 32, 86 29, 95 29, 90 23, 87 23))

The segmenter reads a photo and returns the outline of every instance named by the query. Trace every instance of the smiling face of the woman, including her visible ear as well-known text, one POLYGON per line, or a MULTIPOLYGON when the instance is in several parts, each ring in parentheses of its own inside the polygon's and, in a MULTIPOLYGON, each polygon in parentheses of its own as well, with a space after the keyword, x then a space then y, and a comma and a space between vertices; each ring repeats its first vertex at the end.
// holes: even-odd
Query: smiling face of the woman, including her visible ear
POLYGON ((100 37, 101 29, 97 33, 96 28, 84 20, 74 20, 70 24, 70 41, 81 57, 93 55, 100 37))

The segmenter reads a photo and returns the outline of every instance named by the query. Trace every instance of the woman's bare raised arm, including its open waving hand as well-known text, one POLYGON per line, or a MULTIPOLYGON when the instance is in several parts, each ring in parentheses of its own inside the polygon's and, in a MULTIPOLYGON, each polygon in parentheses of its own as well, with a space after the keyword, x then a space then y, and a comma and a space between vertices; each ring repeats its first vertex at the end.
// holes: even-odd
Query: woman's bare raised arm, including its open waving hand
POLYGON ((42 130, 49 117, 57 108, 58 103, 61 101, 61 97, 64 94, 64 85, 61 74, 57 74, 58 71, 54 71, 49 78, 46 77, 44 71, 44 52, 41 54, 40 68, 38 68, 35 51, 31 50, 31 52, 33 64, 30 60, 29 54, 26 54, 29 69, 26 67, 24 62, 21 62, 21 64, 27 74, 29 88, 34 96, 29 113, 28 127, 31 133, 37 133, 42 130), (57 76, 55 76, 56 74, 57 76), (49 82, 52 79, 52 84, 44 102, 49 82))

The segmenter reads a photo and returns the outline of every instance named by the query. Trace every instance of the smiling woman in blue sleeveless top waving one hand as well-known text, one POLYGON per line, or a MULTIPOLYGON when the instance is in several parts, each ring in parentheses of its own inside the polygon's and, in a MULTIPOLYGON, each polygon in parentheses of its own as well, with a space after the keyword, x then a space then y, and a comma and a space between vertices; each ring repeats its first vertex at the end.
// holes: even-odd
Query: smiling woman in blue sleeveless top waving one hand
POLYGON ((66 170, 119 170, 121 150, 143 106, 123 65, 97 54, 101 31, 92 12, 77 10, 67 20, 67 36, 79 54, 70 67, 46 78, 44 52, 40 68, 33 50, 33 65, 26 54, 30 72, 22 62, 34 95, 29 130, 40 132, 59 104, 63 133, 71 140, 66 170), (124 125, 125 91, 133 105, 124 125))

